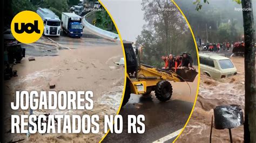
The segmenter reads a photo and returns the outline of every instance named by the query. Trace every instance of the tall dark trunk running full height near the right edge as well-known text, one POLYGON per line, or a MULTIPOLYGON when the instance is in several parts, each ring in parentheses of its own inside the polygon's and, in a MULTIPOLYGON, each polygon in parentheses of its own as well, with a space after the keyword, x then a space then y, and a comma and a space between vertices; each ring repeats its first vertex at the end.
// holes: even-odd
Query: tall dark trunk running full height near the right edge
POLYGON ((245 38, 244 142, 256 142, 255 49, 252 0, 242 0, 245 38))

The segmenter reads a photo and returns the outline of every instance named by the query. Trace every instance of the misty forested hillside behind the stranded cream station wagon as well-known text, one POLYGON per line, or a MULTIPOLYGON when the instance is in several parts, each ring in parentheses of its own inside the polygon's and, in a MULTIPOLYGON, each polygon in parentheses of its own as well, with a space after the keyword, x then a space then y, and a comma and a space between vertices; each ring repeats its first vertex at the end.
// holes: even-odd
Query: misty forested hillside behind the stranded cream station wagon
MULTIPOLYGON (((201 3, 203 6, 197 11, 197 5, 193 2, 192 0, 179 0, 176 3, 185 13, 196 38, 201 38, 205 43, 207 35, 208 42, 242 40, 244 35, 242 11, 238 10, 241 8, 241 4, 232 0, 208 0, 210 4, 201 3)), ((256 1, 252 2, 253 7, 256 7, 256 1)))

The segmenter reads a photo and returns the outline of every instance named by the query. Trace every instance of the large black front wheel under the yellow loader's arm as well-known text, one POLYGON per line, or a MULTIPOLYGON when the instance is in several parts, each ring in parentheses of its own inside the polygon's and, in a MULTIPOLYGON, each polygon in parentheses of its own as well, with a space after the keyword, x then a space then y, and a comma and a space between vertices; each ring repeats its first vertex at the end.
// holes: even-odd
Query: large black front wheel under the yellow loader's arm
POLYGON ((169 101, 172 97, 172 84, 169 81, 159 81, 154 93, 159 101, 169 101))

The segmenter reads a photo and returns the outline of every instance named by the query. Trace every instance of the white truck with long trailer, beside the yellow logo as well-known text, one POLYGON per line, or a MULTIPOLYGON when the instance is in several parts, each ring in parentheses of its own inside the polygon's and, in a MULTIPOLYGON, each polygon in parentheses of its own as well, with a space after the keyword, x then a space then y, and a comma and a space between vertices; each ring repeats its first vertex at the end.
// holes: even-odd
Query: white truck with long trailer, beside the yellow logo
POLYGON ((59 36, 60 35, 60 19, 54 12, 45 8, 38 8, 37 14, 44 22, 44 35, 59 36))

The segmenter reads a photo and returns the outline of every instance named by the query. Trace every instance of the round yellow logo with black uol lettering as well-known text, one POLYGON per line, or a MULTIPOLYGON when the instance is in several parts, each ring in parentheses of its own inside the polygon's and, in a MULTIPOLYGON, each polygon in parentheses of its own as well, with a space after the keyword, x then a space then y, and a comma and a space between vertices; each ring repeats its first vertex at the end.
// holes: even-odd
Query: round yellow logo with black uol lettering
POLYGON ((35 42, 42 36, 43 31, 43 20, 36 12, 22 11, 12 19, 11 33, 19 42, 35 42))

